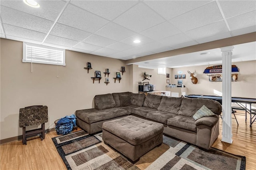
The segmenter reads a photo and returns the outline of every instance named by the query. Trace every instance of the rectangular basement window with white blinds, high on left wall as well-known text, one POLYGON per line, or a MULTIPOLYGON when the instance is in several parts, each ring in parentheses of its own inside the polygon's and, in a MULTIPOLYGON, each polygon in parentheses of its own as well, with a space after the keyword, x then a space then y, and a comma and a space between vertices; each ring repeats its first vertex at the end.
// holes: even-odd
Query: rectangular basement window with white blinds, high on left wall
POLYGON ((65 66, 65 49, 23 42, 22 62, 65 66))

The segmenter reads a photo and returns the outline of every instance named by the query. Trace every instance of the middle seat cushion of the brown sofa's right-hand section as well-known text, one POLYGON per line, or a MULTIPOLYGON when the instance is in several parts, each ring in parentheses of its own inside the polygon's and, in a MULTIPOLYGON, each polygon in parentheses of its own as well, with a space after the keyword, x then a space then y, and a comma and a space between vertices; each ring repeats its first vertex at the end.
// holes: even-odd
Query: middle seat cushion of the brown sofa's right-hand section
POLYGON ((146 114, 147 119, 150 119, 152 121, 156 121, 159 123, 164 123, 166 125, 167 125, 167 119, 170 119, 175 116, 177 115, 169 112, 163 112, 163 111, 154 111, 146 114))

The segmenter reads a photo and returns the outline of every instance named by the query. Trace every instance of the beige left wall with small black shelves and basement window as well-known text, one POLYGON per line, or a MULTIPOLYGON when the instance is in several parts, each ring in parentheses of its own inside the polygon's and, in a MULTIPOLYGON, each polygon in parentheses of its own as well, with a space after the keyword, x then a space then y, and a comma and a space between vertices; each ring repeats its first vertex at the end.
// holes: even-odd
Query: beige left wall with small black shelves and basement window
MULTIPOLYGON (((66 66, 22 63, 22 42, 1 39, 0 91, 1 125, 0 138, 10 138, 22 134, 19 127, 19 109, 31 105, 48 106, 46 128, 53 128, 54 121, 76 110, 92 108, 93 97, 98 94, 129 91, 129 67, 123 60, 100 57, 66 50, 66 66), (87 73, 86 62, 92 63, 87 73), (122 80, 114 83, 113 77, 125 66, 122 80), (57 67, 59 77, 57 78, 57 67), (109 68, 110 83, 102 78, 92 83, 95 71, 109 68)), ((30 128, 38 128, 31 126, 30 128)))

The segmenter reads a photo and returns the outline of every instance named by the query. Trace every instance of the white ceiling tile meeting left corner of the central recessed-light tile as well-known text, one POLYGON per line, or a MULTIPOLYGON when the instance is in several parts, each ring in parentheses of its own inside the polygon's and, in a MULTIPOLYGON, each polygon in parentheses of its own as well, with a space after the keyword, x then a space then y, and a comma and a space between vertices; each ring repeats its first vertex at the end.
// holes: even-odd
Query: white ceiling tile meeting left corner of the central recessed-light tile
POLYGON ((90 44, 93 44, 93 45, 98 45, 98 46, 101 46, 101 47, 105 47, 107 45, 115 43, 116 41, 110 40, 109 38, 105 38, 105 37, 102 37, 102 36, 92 34, 90 37, 86 38, 83 42, 90 43, 90 44))

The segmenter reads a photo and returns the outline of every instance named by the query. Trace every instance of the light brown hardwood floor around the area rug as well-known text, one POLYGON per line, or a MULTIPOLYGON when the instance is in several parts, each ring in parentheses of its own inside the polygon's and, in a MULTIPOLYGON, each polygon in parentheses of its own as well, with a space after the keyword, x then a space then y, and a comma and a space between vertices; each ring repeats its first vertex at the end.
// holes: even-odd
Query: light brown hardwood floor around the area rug
MULTIPOLYGON (((222 142, 219 135, 212 147, 246 156, 246 170, 253 170, 256 167, 256 123, 250 128, 249 120, 245 123, 243 113, 236 113, 236 116, 239 125, 237 126, 236 120, 232 119, 233 143, 222 142)), ((27 145, 23 145, 22 140, 1 144, 0 170, 65 170, 66 166, 52 142, 52 138, 56 136, 58 135, 53 131, 47 133, 43 141, 36 138, 28 140, 27 145)))

